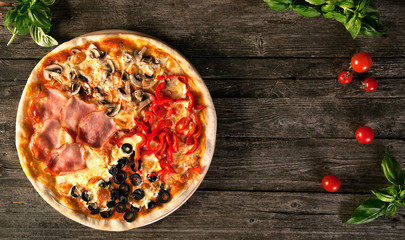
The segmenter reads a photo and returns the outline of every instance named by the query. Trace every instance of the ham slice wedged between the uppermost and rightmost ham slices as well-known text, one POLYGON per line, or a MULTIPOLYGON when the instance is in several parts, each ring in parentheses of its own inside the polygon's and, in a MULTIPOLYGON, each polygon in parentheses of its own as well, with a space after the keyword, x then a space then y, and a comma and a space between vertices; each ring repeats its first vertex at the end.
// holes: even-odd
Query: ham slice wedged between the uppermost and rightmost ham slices
POLYGON ((80 121, 90 112, 97 109, 97 106, 91 103, 85 103, 76 96, 71 97, 67 105, 61 111, 62 127, 73 137, 76 138, 77 129, 80 121))

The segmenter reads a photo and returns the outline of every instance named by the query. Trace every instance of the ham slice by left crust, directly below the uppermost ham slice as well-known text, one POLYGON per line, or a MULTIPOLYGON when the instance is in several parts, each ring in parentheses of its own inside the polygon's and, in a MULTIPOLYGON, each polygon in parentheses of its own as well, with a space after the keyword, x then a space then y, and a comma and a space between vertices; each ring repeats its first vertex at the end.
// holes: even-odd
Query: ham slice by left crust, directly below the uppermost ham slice
POLYGON ((44 122, 42 128, 31 139, 31 148, 36 159, 46 161, 49 157, 49 152, 59 147, 61 131, 62 127, 58 120, 48 119, 44 122))

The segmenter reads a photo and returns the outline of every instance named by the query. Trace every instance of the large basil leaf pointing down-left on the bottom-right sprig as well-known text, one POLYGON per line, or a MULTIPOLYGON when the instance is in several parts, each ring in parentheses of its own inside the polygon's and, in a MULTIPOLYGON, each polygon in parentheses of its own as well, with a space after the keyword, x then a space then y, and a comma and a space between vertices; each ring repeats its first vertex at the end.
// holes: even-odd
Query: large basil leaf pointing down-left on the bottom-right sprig
POLYGON ((343 223, 362 224, 371 222, 379 216, 384 215, 387 207, 388 203, 381 201, 377 197, 369 198, 354 210, 351 218, 343 223))

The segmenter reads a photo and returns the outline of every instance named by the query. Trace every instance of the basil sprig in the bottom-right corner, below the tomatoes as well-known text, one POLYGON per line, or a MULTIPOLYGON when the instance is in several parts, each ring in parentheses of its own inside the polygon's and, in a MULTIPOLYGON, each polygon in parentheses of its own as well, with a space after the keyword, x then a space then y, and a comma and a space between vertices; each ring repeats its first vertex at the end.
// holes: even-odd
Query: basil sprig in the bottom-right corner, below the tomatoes
POLYGON ((388 148, 385 150, 381 168, 385 177, 393 186, 372 190, 371 192, 375 196, 360 204, 354 210, 352 217, 343 223, 368 223, 384 214, 385 217, 391 217, 397 211, 399 204, 405 207, 404 172, 401 165, 391 157, 388 148))

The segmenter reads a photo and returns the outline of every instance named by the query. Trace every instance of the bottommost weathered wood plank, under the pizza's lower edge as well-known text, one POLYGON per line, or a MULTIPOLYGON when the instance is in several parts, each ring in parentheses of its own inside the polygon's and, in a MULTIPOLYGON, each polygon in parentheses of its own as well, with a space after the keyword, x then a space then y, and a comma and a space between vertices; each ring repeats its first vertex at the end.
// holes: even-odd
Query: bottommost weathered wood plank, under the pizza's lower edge
POLYGON ((173 214, 152 225, 121 233, 101 232, 75 223, 48 206, 32 188, 5 186, 0 192, 0 233, 5 238, 401 238, 404 211, 346 226, 368 195, 197 191, 173 214), (12 204, 27 202, 27 205, 12 204), (175 223, 176 227, 173 227, 175 223), (12 231, 19 229, 18 231, 12 231))

